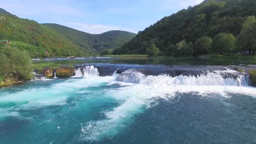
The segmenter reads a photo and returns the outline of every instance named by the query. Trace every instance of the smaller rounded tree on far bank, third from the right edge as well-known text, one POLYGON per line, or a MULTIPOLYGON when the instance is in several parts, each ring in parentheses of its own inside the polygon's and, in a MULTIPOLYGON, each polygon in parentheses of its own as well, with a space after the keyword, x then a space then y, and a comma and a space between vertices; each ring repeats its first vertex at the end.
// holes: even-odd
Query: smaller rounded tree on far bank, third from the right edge
POLYGON ((196 41, 194 44, 194 54, 195 55, 205 55, 211 49, 211 44, 213 40, 208 36, 203 36, 196 41))

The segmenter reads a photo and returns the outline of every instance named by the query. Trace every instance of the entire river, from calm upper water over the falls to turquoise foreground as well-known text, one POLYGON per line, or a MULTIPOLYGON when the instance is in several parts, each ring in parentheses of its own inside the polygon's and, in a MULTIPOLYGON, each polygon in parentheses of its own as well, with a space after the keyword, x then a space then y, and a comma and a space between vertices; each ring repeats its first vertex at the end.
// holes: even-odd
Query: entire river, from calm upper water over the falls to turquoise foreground
POLYGON ((245 73, 198 59, 46 62, 75 75, 0 88, 0 144, 256 143, 245 73))

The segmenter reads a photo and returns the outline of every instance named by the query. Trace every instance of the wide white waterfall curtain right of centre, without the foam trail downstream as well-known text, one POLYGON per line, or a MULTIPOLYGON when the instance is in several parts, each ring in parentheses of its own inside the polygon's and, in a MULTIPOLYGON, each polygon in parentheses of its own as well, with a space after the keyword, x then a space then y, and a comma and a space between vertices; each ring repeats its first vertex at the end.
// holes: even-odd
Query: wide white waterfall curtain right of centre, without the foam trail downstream
POLYGON ((205 72, 201 75, 178 75, 171 77, 167 74, 158 76, 145 76, 135 69, 128 69, 116 77, 119 82, 139 83, 143 85, 229 85, 229 86, 248 86, 249 76, 245 73, 223 70, 205 72))

